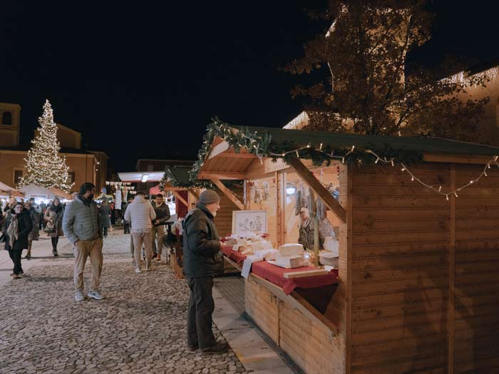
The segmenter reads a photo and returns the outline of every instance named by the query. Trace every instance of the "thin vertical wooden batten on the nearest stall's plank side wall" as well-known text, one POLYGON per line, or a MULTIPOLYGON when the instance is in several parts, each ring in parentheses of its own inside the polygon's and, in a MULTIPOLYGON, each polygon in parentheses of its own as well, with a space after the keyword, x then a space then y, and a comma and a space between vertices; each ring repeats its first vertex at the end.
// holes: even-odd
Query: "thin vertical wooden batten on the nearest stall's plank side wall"
MULTIPOLYGON (((451 164, 451 190, 456 189, 456 165, 451 164)), ((454 373, 454 321, 456 313, 456 196, 451 195, 451 222, 448 261, 448 301, 447 301, 447 373, 454 373)))

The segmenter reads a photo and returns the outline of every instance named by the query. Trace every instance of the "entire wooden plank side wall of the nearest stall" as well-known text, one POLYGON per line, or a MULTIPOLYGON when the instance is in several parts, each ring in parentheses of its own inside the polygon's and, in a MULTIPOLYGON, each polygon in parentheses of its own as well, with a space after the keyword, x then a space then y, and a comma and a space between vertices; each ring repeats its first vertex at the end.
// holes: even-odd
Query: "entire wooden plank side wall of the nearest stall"
MULTIPOLYGON (((448 190, 483 166, 410 167, 448 190)), ((445 197, 354 170, 351 373, 499 373, 499 172, 445 197)))

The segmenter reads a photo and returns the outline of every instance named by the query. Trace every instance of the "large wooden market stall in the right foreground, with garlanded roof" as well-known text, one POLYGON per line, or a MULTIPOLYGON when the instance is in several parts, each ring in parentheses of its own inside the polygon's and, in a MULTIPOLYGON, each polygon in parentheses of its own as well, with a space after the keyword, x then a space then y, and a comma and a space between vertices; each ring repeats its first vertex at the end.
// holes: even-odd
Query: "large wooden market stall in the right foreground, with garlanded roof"
POLYGON ((254 274, 245 281, 247 314, 307 373, 498 373, 498 154, 442 139, 214 123, 193 171, 265 183, 269 199, 245 204, 267 210, 276 246, 296 241, 289 182, 328 207, 337 289, 286 294, 254 274))

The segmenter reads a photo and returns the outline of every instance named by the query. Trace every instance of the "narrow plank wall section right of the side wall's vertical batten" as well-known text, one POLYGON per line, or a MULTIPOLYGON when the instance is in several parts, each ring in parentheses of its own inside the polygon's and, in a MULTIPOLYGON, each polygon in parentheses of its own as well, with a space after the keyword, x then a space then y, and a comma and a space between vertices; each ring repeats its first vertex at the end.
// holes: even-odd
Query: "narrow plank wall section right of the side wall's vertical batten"
MULTIPOLYGON (((483 166, 456 165, 456 185, 483 166)), ((499 170, 456 199, 454 373, 499 373, 499 170)))

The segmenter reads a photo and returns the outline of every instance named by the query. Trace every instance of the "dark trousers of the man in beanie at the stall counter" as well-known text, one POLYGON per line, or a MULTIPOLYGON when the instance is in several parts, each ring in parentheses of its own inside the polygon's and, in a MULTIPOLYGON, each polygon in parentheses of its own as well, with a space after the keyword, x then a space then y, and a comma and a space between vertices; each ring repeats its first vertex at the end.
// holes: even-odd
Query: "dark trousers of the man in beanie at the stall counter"
POLYGON ((217 341, 212 331, 212 314, 215 310, 212 288, 213 277, 185 277, 190 289, 187 305, 187 346, 210 348, 217 341))

